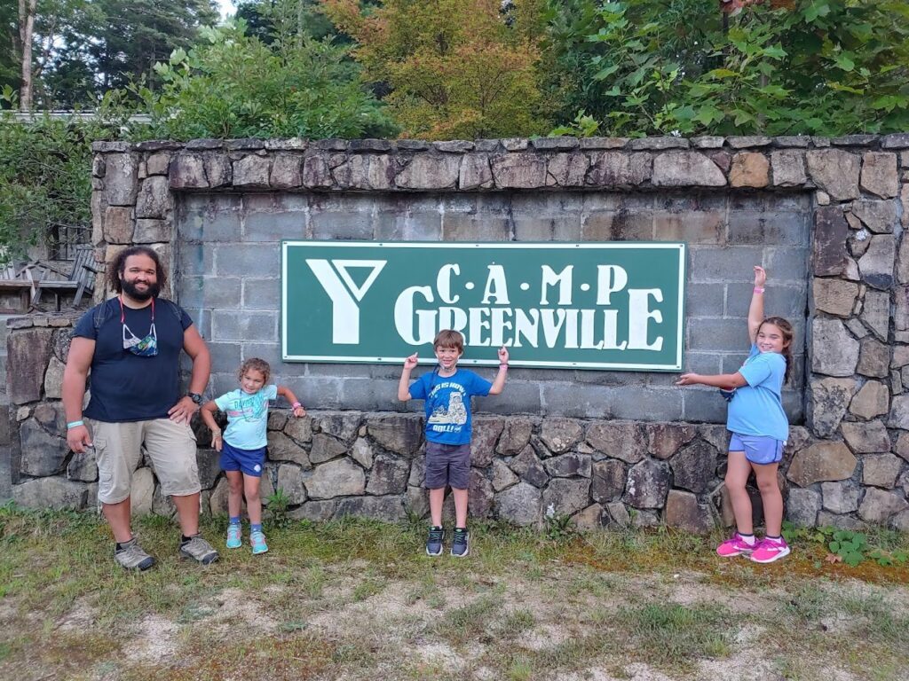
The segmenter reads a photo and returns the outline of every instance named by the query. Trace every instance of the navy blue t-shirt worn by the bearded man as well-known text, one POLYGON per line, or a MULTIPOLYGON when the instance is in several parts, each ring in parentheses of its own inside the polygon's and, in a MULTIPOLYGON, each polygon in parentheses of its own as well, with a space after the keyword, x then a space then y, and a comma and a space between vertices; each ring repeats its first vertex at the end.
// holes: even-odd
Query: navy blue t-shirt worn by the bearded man
MULTIPOLYGON (((95 341, 89 376, 92 395, 85 416, 107 423, 166 419, 167 411, 181 397, 180 350, 183 350, 183 332, 192 326, 193 320, 175 303, 156 300, 158 354, 139 357, 124 350, 120 302, 112 298, 101 303, 105 305, 98 329, 95 330, 98 311, 95 307, 85 312, 73 331, 74 337, 95 341), (179 311, 179 318, 175 311, 179 311)), ((152 306, 123 309, 129 330, 137 338, 145 338, 152 326, 152 306)))

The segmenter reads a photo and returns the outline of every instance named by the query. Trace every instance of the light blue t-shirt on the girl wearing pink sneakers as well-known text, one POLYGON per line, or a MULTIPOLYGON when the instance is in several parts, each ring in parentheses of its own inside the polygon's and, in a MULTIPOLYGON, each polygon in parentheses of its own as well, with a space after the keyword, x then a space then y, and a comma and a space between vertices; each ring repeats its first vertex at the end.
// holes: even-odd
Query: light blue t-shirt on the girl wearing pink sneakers
POLYGON ((783 410, 783 380, 786 359, 779 352, 761 352, 751 346, 751 354, 738 370, 748 385, 735 390, 729 402, 726 429, 741 435, 774 439, 789 438, 789 421, 783 410))

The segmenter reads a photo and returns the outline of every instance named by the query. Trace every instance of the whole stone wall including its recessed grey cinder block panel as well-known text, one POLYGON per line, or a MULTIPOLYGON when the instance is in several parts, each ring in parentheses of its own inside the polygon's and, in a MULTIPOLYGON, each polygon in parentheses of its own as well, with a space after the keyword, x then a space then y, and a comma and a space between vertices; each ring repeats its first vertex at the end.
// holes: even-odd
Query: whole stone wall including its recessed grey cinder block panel
MULTIPOLYGON (((290 420, 277 410, 270 423, 266 493, 285 489, 295 515, 422 514, 423 444, 419 414, 393 411, 419 410, 395 402, 398 368, 280 362, 281 239, 684 240, 688 368, 738 366, 755 262, 771 271, 767 310, 799 330, 785 396, 796 424, 781 470, 788 517, 909 527, 909 134, 200 140, 95 152, 98 260, 152 244, 212 345, 209 390, 262 355, 314 410, 290 420)), ((61 440, 65 331, 50 325, 69 323, 16 321, 9 338, 11 367, 15 351, 38 352, 10 372, 14 496, 37 505, 92 503, 93 463, 61 440)), ((514 370, 504 395, 475 404, 474 514, 527 524, 551 507, 584 527, 728 523, 724 402, 672 379, 514 370)), ((206 444, 200 432, 205 505, 219 511, 225 483, 206 444)), ((139 508, 167 508, 150 471, 136 485, 139 508)))

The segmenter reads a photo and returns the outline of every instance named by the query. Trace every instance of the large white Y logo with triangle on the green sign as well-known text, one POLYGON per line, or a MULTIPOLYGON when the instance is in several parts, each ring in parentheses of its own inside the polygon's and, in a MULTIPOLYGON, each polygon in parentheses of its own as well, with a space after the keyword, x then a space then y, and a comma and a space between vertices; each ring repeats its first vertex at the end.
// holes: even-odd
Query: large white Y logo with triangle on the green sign
POLYGON ((360 305, 366 291, 375 283, 386 260, 316 260, 306 259, 309 269, 332 301, 332 342, 357 345, 360 342, 360 305), (360 285, 351 270, 368 269, 360 285))

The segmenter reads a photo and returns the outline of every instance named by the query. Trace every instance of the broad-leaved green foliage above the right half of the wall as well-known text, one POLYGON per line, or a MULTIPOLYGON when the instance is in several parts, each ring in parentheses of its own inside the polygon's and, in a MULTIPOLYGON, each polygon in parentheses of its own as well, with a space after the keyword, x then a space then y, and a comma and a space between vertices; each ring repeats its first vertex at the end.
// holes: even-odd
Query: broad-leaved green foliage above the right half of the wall
POLYGON ((581 110, 600 133, 909 128, 902 0, 771 2, 727 27, 715 0, 571 0, 549 18, 550 89, 564 119, 581 110))

